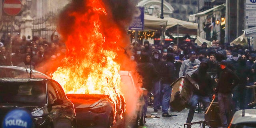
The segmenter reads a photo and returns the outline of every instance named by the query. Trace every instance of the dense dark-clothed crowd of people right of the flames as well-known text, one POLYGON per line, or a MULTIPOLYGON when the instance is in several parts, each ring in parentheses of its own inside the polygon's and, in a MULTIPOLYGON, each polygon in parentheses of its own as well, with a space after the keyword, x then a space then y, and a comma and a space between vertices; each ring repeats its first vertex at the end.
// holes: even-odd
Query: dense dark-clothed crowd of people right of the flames
MULTIPOLYGON (((256 84, 254 51, 240 44, 222 44, 219 40, 213 40, 211 46, 208 45, 203 42, 199 46, 190 40, 178 45, 174 42, 154 45, 144 41, 143 45, 134 43, 130 46, 134 53, 131 58, 136 61, 137 70, 143 76, 142 86, 154 94, 155 112, 162 109, 163 117, 172 116, 168 113, 172 92, 170 84, 186 75, 199 85, 199 90, 192 90, 187 123, 192 121, 199 102, 208 107, 215 96, 218 96, 216 101, 224 128, 235 111, 252 107, 247 105, 252 102, 252 90, 245 87, 256 84)), ((147 96, 144 98, 147 99, 147 96)), ((146 113, 146 109, 144 111, 146 113)), ((170 108, 170 111, 174 110, 170 108)))

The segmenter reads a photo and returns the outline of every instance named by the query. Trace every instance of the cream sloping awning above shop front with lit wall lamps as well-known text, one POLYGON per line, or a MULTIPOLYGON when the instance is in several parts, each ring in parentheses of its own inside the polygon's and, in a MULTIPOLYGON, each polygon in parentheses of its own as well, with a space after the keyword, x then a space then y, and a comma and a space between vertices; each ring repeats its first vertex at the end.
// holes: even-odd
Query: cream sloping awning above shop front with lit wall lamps
POLYGON ((213 12, 216 12, 216 11, 220 11, 222 10, 222 8, 225 8, 226 7, 226 4, 221 4, 219 6, 216 6, 216 7, 213 7, 213 8, 210 8, 208 10, 205 10, 204 12, 199 12, 199 13, 196 13, 196 14, 192 14, 189 16, 189 21, 190 22, 194 22, 196 21, 196 17, 199 17, 199 16, 204 16, 208 13, 213 13, 213 12))

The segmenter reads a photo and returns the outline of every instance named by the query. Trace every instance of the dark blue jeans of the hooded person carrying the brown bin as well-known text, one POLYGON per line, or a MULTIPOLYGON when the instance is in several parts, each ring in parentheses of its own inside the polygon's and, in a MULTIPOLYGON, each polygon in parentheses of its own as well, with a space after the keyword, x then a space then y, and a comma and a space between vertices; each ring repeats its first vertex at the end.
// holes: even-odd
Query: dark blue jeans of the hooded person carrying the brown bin
POLYGON ((189 103, 190 108, 188 112, 187 123, 191 123, 191 121, 193 120, 195 108, 199 102, 202 102, 204 107, 206 108, 210 105, 210 98, 209 96, 198 96, 196 94, 192 96, 189 103))

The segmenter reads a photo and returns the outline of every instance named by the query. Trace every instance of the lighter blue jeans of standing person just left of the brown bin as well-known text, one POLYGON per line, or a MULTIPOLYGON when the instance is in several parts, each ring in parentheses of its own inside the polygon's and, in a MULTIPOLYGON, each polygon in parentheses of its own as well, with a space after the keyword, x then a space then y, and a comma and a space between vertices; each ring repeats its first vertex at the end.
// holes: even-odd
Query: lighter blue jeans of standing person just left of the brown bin
POLYGON ((172 94, 172 87, 170 84, 162 84, 163 86, 163 100, 162 100, 162 112, 168 113, 170 98, 172 94))

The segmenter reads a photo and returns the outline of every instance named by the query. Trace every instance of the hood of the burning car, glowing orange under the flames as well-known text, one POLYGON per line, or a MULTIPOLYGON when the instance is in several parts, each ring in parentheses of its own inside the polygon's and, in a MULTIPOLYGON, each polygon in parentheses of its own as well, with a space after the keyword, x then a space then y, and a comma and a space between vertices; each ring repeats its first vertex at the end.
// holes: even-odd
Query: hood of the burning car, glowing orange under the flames
POLYGON ((73 102, 75 108, 91 108, 100 102, 110 101, 108 96, 103 94, 66 94, 73 102))

